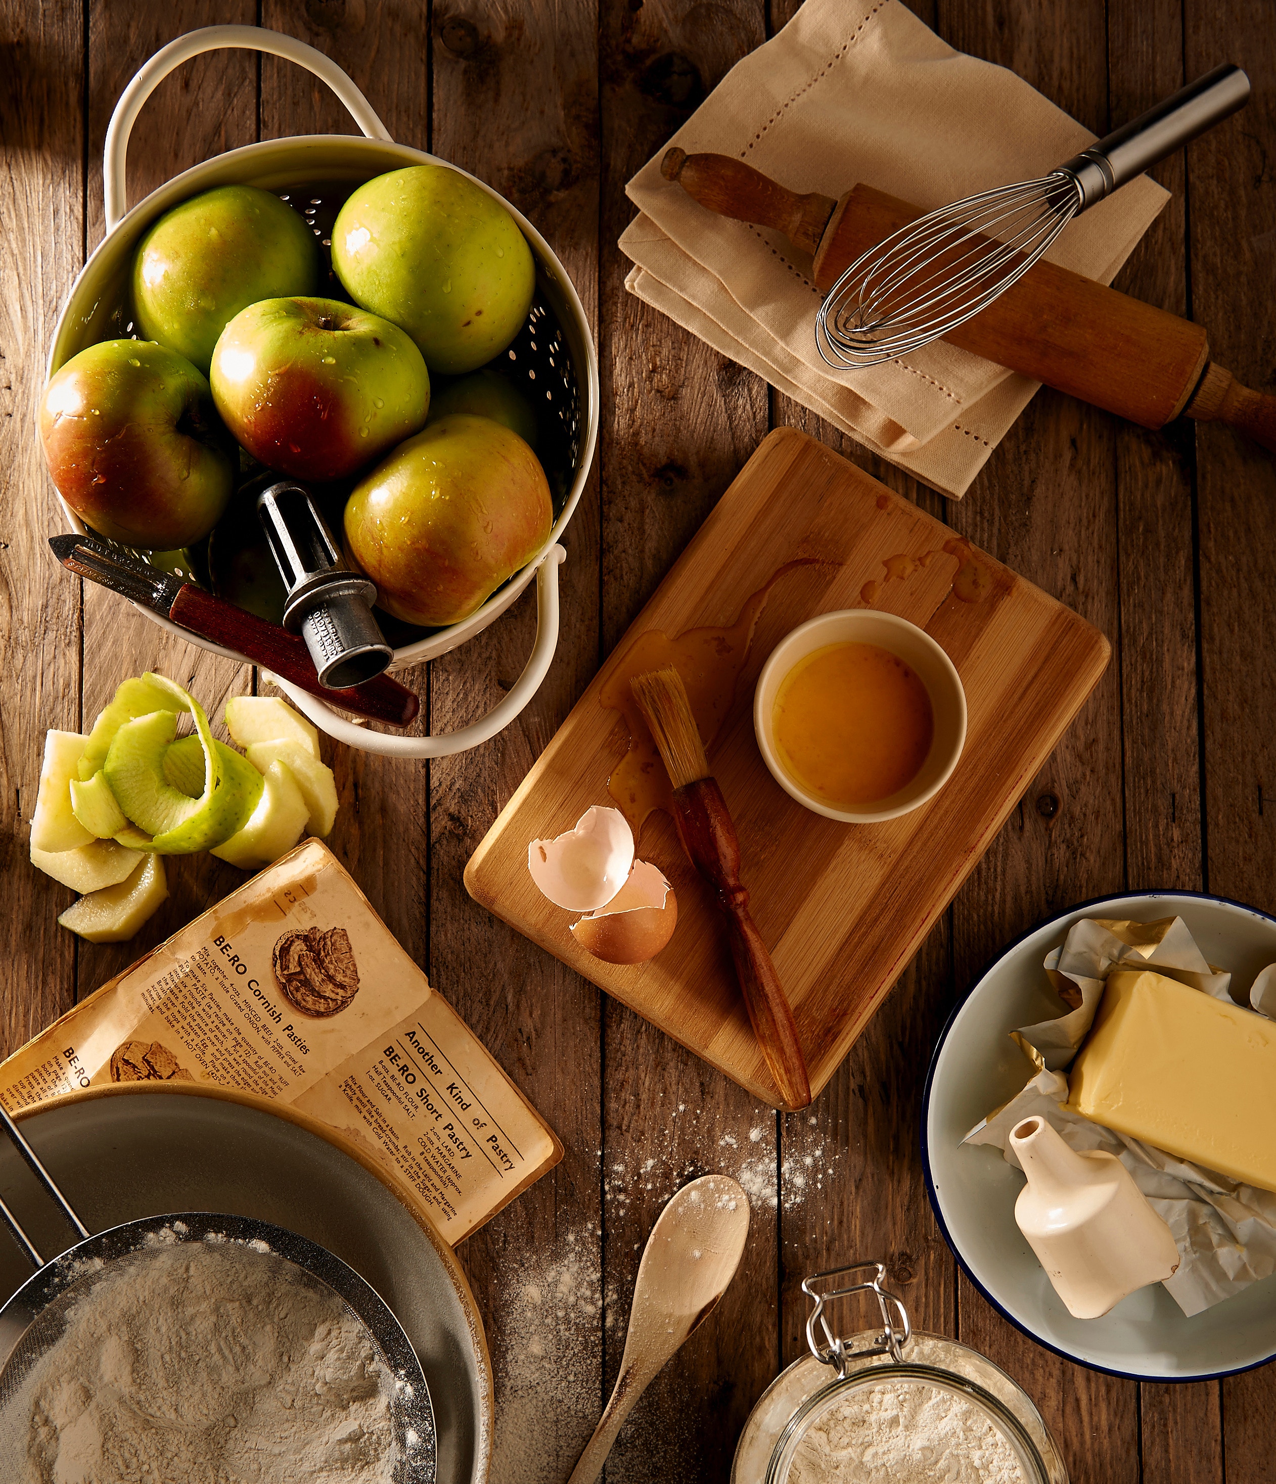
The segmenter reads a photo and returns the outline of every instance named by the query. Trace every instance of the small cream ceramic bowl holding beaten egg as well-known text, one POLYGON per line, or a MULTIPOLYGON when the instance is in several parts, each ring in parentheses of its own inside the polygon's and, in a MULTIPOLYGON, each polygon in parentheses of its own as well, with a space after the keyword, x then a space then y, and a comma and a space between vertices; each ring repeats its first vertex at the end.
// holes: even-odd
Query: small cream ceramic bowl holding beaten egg
POLYGON ((893 613, 877 613, 872 608, 840 608, 835 613, 820 613, 807 619, 772 650, 754 692, 754 732, 763 761, 786 794, 815 813, 823 815, 825 819, 840 819, 849 825, 871 825, 907 815, 911 809, 933 798, 948 782, 966 742, 966 692, 961 689, 961 677, 953 660, 915 623, 896 617, 893 613), (877 644, 911 666, 930 696, 930 709, 935 717, 930 751, 915 776, 889 797, 861 809, 837 809, 815 794, 809 794, 785 770, 773 738, 776 693, 794 665, 828 644, 849 643, 877 644))

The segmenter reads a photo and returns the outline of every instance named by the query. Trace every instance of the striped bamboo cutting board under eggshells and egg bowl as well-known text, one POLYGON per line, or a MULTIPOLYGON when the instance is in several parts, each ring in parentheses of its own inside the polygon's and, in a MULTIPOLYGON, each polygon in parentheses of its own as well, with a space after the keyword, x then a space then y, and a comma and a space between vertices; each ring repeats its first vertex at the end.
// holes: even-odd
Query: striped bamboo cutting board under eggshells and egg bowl
POLYGON ((991 843, 1098 683, 1108 643, 1083 619, 970 548, 804 433, 758 447, 537 758, 466 867, 475 901, 599 988, 779 1106, 736 985, 709 890, 657 812, 638 855, 669 877, 678 926, 644 965, 602 963, 527 871, 527 847, 610 804, 629 735, 599 703, 637 635, 734 623, 772 585, 730 711, 709 751, 740 837, 751 908, 794 1008, 819 1094, 936 917, 991 843), (947 549, 945 549, 947 548, 947 549), (871 605, 923 626, 966 687, 961 761, 921 809, 877 825, 813 815, 775 782, 754 739, 767 654, 816 613, 871 605))

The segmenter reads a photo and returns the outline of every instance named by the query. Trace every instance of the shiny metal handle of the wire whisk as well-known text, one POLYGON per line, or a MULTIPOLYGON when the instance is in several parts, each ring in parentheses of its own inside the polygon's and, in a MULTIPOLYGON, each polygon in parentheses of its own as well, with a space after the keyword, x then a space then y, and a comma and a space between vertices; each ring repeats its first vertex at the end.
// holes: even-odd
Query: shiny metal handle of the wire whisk
POLYGON ((1071 175, 1077 183, 1082 197, 1077 211, 1085 211, 1243 108, 1248 99, 1249 79, 1239 67, 1224 62, 1082 150, 1056 174, 1071 175))

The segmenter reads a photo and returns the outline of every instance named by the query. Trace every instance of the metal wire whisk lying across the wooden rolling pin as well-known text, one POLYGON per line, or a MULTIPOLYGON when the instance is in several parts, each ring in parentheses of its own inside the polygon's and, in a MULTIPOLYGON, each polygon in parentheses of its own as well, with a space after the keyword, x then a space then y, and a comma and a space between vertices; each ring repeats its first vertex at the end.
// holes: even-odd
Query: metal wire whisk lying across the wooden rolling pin
POLYGON ((1215 67, 1040 180, 967 196, 862 254, 829 289, 815 340, 838 370, 893 361, 987 309, 1096 200, 1203 134, 1249 98, 1239 67, 1215 67))

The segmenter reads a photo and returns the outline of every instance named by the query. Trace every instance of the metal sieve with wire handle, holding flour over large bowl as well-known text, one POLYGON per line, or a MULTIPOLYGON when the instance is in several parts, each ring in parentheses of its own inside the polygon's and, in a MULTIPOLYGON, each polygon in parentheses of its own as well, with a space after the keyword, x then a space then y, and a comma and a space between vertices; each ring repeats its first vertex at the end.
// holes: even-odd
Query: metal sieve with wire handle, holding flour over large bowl
POLYGON ((269 1254, 295 1269, 307 1287, 335 1294, 346 1304, 395 1377, 392 1420, 399 1448, 395 1484, 433 1484, 435 1413, 421 1364, 389 1304, 353 1267, 295 1232, 215 1211, 148 1215, 92 1235, 3 1107, 0 1125, 80 1236, 74 1247, 45 1261, 0 1198, 0 1220, 36 1264, 27 1282, 0 1306, 0 1477, 18 1477, 30 1431, 30 1419, 16 1414, 9 1402, 64 1334, 71 1307, 92 1298, 93 1285, 105 1273, 145 1260, 160 1245, 215 1242, 221 1250, 236 1244, 252 1250, 254 1255, 269 1254), (7 1416, 9 1411, 15 1416, 7 1416))

